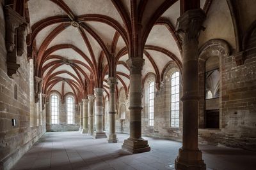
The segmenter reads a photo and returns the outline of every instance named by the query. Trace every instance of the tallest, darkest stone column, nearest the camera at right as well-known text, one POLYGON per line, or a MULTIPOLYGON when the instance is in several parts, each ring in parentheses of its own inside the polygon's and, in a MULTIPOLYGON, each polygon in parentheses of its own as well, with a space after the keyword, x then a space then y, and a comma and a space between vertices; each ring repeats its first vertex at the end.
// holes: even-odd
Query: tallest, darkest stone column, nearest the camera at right
POLYGON ((204 20, 201 9, 186 11, 177 20, 177 34, 182 40, 183 129, 176 169, 206 169, 198 149, 198 33, 204 20))

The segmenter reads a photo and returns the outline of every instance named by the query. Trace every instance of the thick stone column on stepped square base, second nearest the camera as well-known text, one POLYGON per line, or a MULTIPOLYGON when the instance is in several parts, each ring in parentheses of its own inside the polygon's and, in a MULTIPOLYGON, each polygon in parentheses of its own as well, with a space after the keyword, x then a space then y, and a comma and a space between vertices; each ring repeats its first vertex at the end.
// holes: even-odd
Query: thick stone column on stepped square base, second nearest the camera
POLYGON ((130 138, 124 140, 122 150, 131 153, 148 152, 148 141, 141 138, 141 71, 144 59, 130 58, 127 65, 130 68, 130 138))

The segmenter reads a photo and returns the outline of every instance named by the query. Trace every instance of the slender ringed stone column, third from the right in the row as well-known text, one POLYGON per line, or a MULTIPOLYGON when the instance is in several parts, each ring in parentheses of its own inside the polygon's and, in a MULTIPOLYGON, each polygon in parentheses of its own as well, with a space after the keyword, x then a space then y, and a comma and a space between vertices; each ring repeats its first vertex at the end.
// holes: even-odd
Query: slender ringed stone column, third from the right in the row
POLYGON ((109 138, 108 143, 117 143, 116 138, 116 110, 115 110, 115 87, 117 81, 115 77, 108 78, 109 85, 109 138))

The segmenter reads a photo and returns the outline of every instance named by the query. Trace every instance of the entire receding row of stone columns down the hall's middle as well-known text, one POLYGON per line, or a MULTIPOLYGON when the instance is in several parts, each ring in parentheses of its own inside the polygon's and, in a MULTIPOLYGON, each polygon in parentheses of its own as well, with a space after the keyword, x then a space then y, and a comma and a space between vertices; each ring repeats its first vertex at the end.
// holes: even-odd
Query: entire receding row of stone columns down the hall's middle
MULTIPOLYGON (((182 147, 175 159, 176 169, 206 169, 202 152, 198 150, 198 34, 205 19, 203 10, 187 10, 177 20, 176 31, 182 41, 182 81, 183 81, 183 127, 182 147)), ((130 69, 130 137, 125 139, 122 150, 131 153, 150 151, 148 141, 141 138, 141 71, 144 65, 142 57, 129 57, 130 69)), ((115 133, 115 86, 116 78, 109 76, 109 143, 116 143, 115 133)), ((102 131, 103 89, 95 88, 95 96, 88 95, 80 106, 81 133, 88 133, 93 138, 107 138, 102 131), (95 99, 96 131, 93 131, 93 100, 95 99), (88 119, 89 118, 89 119, 88 119), (88 126, 89 122, 89 126, 88 126)))

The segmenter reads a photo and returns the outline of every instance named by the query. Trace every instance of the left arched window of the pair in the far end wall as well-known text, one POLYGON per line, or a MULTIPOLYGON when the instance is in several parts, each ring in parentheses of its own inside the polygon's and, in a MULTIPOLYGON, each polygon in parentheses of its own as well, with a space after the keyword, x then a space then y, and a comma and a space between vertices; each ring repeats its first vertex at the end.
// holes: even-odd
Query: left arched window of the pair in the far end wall
POLYGON ((51 123, 59 123, 59 99, 55 94, 51 96, 51 123))

